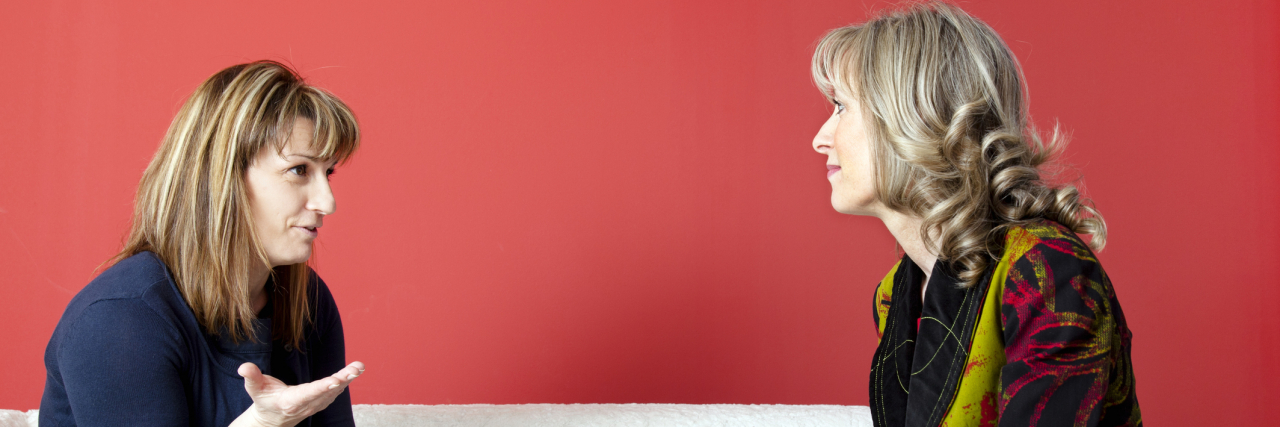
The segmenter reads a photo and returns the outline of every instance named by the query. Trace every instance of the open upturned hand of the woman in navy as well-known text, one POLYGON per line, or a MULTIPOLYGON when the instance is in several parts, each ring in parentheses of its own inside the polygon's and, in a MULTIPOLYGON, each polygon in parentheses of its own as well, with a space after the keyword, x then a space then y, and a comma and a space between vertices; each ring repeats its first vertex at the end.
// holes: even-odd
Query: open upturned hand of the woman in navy
POLYGON ((351 381, 365 372, 365 364, 355 362, 332 376, 296 386, 262 375, 253 363, 241 364, 237 372, 244 377, 244 391, 253 399, 253 405, 233 424, 292 427, 328 408, 351 381))

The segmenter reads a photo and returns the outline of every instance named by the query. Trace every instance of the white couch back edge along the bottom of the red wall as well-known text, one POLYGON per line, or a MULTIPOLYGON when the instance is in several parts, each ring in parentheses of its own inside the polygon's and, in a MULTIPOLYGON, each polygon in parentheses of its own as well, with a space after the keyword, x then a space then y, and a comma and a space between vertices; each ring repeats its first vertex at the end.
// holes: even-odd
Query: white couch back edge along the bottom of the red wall
MULTIPOLYGON (((840 405, 355 405, 360 427, 872 427, 867 407, 840 405)), ((38 410, 0 409, 0 427, 36 427, 38 410)))

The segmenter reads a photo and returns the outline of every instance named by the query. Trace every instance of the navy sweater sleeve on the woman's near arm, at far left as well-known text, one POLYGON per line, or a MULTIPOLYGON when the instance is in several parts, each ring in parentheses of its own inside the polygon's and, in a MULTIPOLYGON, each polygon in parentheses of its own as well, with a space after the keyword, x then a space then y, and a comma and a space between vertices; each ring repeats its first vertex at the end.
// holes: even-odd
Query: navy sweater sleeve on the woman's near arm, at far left
POLYGON ((186 426, 183 340, 138 299, 88 306, 58 363, 77 426, 186 426))

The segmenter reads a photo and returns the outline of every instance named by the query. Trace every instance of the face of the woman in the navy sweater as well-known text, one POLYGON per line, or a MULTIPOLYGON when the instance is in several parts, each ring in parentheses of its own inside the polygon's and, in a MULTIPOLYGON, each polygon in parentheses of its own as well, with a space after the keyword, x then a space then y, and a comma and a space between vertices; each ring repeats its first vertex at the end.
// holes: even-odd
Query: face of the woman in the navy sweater
POLYGON ((297 119, 284 151, 260 150, 244 173, 253 233, 273 267, 307 261, 324 216, 337 208, 329 188, 335 161, 316 159, 314 128, 311 120, 297 119))

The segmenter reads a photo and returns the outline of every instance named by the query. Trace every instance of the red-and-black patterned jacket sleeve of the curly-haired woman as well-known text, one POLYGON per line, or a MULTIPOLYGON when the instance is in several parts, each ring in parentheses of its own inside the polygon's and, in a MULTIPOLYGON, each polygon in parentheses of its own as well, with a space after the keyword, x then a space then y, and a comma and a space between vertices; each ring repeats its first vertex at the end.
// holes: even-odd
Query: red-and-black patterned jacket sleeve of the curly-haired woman
POLYGON ((1083 248, 1037 244, 1005 280, 1000 426, 1096 426, 1116 323, 1110 284, 1083 248))

